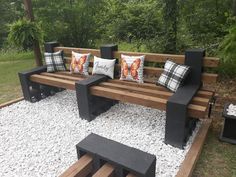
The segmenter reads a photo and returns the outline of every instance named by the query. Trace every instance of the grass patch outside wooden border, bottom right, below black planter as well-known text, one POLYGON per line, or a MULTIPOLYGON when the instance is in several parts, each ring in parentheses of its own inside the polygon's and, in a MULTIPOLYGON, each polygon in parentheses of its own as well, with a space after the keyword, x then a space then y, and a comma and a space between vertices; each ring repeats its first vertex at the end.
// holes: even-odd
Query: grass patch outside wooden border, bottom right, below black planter
POLYGON ((210 129, 193 177, 236 177, 236 147, 220 142, 219 135, 219 128, 210 129))

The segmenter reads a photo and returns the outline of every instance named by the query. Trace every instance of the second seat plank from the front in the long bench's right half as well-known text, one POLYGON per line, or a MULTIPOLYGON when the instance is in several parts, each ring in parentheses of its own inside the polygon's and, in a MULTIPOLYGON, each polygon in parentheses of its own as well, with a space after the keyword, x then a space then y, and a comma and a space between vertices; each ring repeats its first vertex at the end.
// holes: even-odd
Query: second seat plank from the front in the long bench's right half
MULTIPOLYGON (((135 87, 135 86, 127 86, 109 82, 102 82, 99 86, 104 86, 106 88, 118 89, 118 90, 128 90, 132 93, 139 93, 141 95, 148 95, 148 96, 156 96, 158 98, 168 99, 170 96, 173 95, 172 92, 169 91, 160 91, 157 89, 147 89, 142 87, 135 87)), ((192 100, 192 104, 200 105, 200 106, 207 106, 209 99, 201 98, 195 96, 192 100)))

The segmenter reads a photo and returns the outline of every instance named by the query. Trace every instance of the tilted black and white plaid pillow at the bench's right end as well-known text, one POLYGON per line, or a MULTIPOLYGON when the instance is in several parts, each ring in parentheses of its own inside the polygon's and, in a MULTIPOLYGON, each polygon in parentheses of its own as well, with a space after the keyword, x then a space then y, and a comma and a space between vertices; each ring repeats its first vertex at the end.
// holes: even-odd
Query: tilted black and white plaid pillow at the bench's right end
POLYGON ((189 71, 189 66, 179 65, 171 60, 167 60, 164 66, 164 71, 159 77, 157 83, 173 92, 176 92, 188 75, 189 71))

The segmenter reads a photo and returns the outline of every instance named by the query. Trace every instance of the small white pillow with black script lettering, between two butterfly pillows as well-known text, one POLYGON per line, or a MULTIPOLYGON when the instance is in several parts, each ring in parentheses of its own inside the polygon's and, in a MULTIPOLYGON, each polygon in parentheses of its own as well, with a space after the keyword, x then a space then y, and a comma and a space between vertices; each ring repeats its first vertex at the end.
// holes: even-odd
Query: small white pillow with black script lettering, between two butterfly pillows
POLYGON ((93 74, 104 74, 114 78, 116 59, 104 59, 94 56, 93 74))

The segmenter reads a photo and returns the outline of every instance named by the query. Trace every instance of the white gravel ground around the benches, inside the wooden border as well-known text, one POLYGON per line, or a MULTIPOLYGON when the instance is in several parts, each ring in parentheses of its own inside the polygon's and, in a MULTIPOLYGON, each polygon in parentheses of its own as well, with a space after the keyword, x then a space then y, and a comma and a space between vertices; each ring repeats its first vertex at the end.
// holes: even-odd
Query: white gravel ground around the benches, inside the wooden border
POLYGON ((164 129, 165 112, 124 103, 92 122, 81 120, 73 91, 21 101, 0 109, 0 176, 58 176, 77 160, 75 145, 91 132, 156 155, 156 176, 175 176, 193 137, 180 150, 163 143, 164 129))

